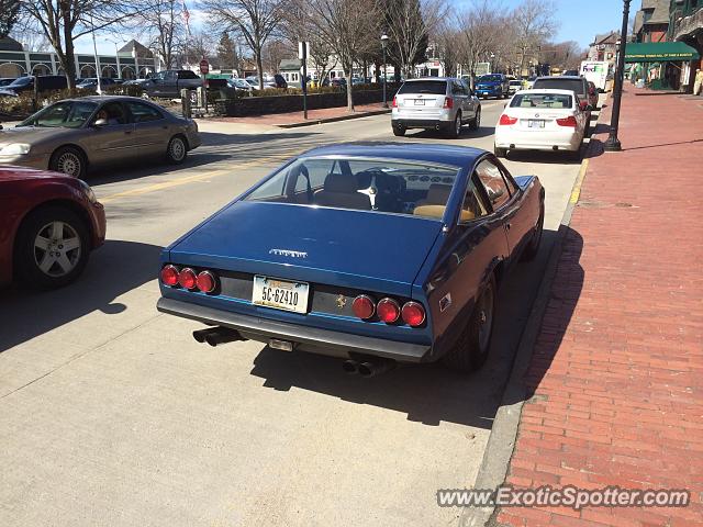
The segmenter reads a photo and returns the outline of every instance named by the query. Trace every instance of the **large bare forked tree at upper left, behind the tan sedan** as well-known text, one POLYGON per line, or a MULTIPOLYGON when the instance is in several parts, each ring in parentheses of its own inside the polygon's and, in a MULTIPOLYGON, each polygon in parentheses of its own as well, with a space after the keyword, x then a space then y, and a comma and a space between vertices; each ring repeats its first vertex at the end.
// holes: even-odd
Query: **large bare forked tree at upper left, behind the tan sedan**
POLYGON ((137 13, 138 8, 129 0, 23 0, 22 11, 42 27, 56 52, 69 89, 75 90, 76 38, 114 26, 137 13))

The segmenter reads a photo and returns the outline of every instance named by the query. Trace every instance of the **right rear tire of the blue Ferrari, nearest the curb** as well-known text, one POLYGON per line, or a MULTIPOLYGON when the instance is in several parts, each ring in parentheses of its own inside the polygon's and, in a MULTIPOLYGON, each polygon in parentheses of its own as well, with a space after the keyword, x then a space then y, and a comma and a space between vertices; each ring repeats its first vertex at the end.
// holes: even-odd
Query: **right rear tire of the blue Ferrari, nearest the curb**
POLYGON ((491 350, 495 298, 495 278, 491 274, 478 296, 473 312, 459 339, 442 358, 445 366, 464 372, 476 371, 483 366, 491 350))

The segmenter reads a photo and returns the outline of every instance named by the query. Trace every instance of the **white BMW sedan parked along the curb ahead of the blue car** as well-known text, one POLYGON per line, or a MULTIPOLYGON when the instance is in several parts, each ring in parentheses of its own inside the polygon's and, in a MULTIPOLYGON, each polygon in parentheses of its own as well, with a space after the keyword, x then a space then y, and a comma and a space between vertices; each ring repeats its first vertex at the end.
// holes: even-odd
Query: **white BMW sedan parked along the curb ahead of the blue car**
POLYGON ((522 90, 505 104, 495 125, 494 153, 566 150, 580 155, 588 125, 588 101, 570 90, 522 90))

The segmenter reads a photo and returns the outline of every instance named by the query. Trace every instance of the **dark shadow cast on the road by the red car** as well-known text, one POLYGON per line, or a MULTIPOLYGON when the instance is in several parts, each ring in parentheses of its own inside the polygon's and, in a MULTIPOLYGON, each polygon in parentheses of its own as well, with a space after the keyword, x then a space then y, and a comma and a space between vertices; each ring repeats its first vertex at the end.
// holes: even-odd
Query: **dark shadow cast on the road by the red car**
POLYGON ((0 352, 96 310, 109 315, 124 312, 126 306, 115 298, 154 280, 160 250, 155 245, 107 240, 91 253, 83 273, 65 288, 40 292, 14 284, 0 290, 0 352))

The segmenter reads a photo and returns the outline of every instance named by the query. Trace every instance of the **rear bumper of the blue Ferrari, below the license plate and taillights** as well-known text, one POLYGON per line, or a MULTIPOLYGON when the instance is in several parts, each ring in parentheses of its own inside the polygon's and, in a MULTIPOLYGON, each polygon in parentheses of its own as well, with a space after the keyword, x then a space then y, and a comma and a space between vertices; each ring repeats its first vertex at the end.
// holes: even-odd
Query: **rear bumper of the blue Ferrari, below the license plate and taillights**
POLYGON ((235 329, 244 338, 268 344, 271 338, 287 340, 295 349, 332 357, 355 357, 358 355, 384 357, 398 362, 425 362, 429 360, 429 346, 364 337, 348 333, 333 332, 270 321, 258 316, 241 315, 190 302, 161 298, 156 304, 161 313, 199 321, 212 326, 235 329))

